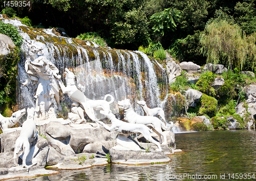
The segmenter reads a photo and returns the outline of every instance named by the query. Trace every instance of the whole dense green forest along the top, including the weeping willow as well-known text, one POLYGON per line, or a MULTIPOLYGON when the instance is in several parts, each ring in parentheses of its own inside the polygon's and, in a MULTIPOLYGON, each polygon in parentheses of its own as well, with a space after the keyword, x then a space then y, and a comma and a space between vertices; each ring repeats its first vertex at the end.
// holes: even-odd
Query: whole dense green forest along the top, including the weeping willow
POLYGON ((9 17, 27 16, 33 27, 63 28, 69 37, 92 32, 89 34, 103 38, 112 48, 138 50, 140 47, 143 50, 155 46, 167 50, 180 62, 203 65, 207 60, 226 66, 234 64, 240 70, 254 69, 254 0, 27 0, 30 6, 12 8, 4 7, 3 0, 0 2, 0 11, 9 17), (212 42, 219 42, 210 47, 212 42, 206 40, 216 36, 210 32, 216 29, 209 28, 214 22, 219 23, 216 25, 221 29, 219 35, 228 34, 212 39, 212 42), (226 29, 222 29, 223 26, 226 29), (232 35, 235 32, 240 35, 232 35), (248 38, 249 35, 253 36, 248 38), (227 39, 239 39, 238 36, 241 40, 247 37, 246 42, 221 45, 227 39), (250 47, 240 50, 239 46, 245 46, 243 43, 249 43, 250 47), (225 52, 232 48, 238 50, 225 52), (212 52, 212 49, 219 52, 212 52), (241 51, 245 54, 242 59, 241 51))

